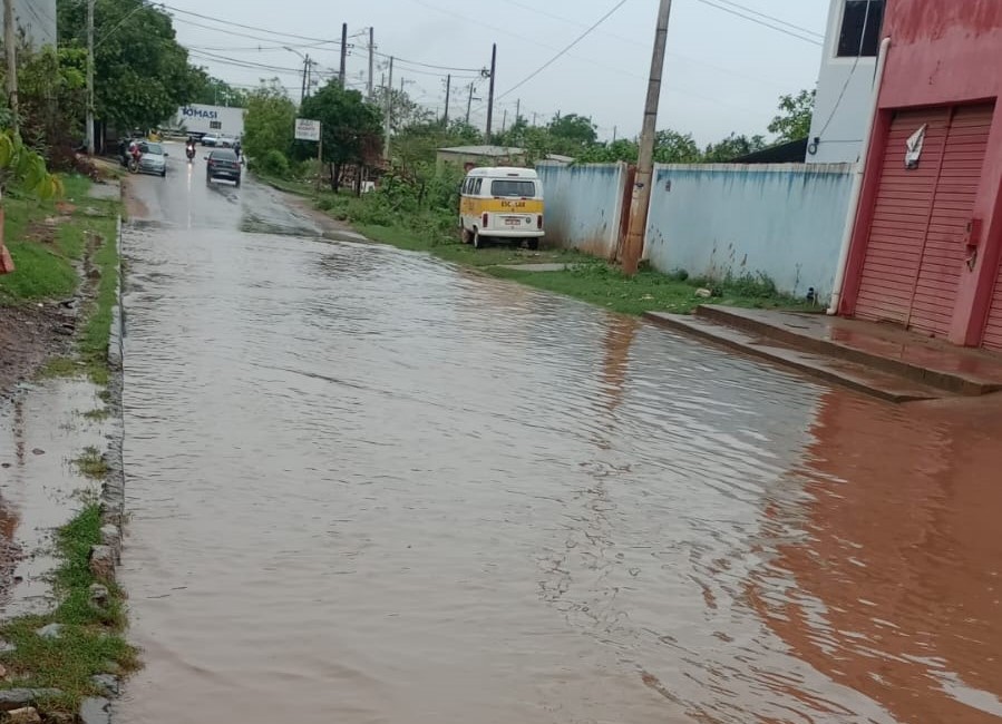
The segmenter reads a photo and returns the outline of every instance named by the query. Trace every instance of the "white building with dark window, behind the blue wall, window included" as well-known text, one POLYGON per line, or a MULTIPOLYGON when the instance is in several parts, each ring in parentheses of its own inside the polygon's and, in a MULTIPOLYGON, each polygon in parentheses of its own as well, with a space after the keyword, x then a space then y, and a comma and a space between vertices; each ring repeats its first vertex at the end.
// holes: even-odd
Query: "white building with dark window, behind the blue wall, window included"
POLYGON ((885 0, 831 0, 808 137, 808 164, 855 163, 859 158, 884 12, 885 0))

